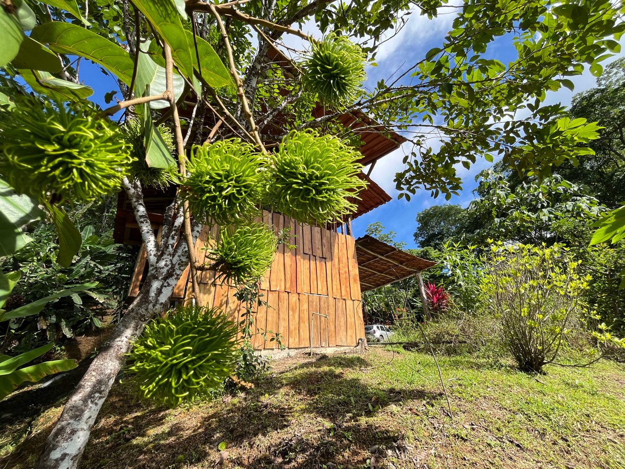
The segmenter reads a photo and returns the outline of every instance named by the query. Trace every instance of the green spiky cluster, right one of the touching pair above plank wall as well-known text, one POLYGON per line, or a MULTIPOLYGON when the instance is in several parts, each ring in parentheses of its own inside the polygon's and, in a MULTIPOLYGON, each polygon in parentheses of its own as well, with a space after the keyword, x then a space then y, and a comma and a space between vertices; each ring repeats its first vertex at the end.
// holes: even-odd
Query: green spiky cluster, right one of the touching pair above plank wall
POLYGON ((272 155, 272 204, 308 223, 327 223, 353 213, 366 183, 358 177, 361 154, 340 139, 315 132, 290 133, 272 155))

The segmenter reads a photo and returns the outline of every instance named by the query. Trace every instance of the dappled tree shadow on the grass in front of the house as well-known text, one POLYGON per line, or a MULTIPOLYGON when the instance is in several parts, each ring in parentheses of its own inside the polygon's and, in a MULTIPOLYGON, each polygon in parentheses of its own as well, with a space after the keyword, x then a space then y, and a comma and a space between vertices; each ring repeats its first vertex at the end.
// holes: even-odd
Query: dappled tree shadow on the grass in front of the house
POLYGON ((128 388, 118 386, 101 412, 81 467, 212 467, 220 443, 230 453, 231 467, 364 465, 370 446, 395 441, 399 432, 361 416, 374 416, 392 403, 442 398, 346 376, 349 369, 369 365, 360 356, 321 356, 226 403, 174 410, 138 408, 126 398, 128 388))

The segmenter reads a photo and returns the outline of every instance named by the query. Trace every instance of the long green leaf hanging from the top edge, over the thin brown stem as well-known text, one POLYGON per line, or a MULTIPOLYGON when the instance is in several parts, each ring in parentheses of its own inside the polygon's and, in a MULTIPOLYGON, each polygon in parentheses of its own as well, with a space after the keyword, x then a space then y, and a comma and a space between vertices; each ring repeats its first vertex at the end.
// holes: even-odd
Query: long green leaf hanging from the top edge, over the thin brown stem
POLYGON ((186 78, 193 76, 193 43, 189 43, 187 31, 173 0, 134 0, 154 29, 171 46, 171 54, 181 73, 186 78))

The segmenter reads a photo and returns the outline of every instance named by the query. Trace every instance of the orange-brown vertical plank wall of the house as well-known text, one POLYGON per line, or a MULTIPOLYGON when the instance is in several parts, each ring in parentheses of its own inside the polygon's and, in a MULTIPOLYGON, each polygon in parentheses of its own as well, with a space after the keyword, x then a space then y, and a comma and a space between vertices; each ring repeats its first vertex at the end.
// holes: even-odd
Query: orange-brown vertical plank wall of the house
MULTIPOLYGON (((279 332, 286 348, 302 348, 311 345, 312 321, 314 347, 356 345, 358 338, 364 337, 364 322, 354 238, 267 211, 262 221, 272 225, 276 234, 290 228, 289 242, 296 248, 289 250, 280 245, 271 268, 261 280, 262 299, 267 305, 256 312, 257 328, 279 332)), ((197 261, 204 261, 203 248, 216 243, 218 236, 218 227, 202 229, 196 243, 197 261)), ((190 301, 192 289, 187 277, 185 273, 176 291, 186 287, 182 295, 190 301)), ((236 300, 234 293, 234 288, 215 281, 214 272, 201 273, 202 305, 220 308, 230 320, 237 321, 244 305, 236 300)), ((254 346, 276 348, 277 345, 256 336, 254 346)))

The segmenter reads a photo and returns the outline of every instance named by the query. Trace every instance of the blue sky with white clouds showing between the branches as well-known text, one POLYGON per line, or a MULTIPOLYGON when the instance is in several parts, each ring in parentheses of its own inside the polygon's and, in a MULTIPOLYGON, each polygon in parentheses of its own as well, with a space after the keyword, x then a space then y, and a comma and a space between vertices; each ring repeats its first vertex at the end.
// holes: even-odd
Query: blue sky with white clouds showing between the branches
MULTIPOLYGON (((437 18, 429 20, 426 16, 421 16, 417 12, 411 14, 406 26, 404 26, 399 34, 382 44, 376 56, 377 67, 367 68, 367 82, 365 85, 369 88, 373 88, 377 80, 389 78, 389 75, 394 73, 397 69, 400 69, 402 65, 406 64, 409 66, 421 59, 429 49, 435 46, 441 46, 444 36, 447 31, 451 29, 454 16, 455 14, 449 13, 440 14, 437 18)), ((312 21, 307 21, 302 29, 309 34, 313 34, 313 36, 321 36, 312 21)), ((287 36, 284 43, 291 48, 304 48, 302 40, 294 36, 287 36)), ((621 41, 621 43, 625 45, 625 39, 621 41)), ((625 49, 625 47, 623 49, 625 49)), ((285 53, 293 55, 288 50, 285 50, 285 53)), ((496 41, 490 44, 487 51, 488 56, 497 58, 503 63, 515 59, 515 54, 516 51, 512 48, 510 38, 507 37, 496 39, 496 41)), ((614 59, 616 59, 616 57, 608 59, 604 64, 614 59)), ((83 60, 80 79, 84 84, 93 86, 96 90, 96 93, 91 96, 93 101, 103 107, 110 105, 104 103, 104 93, 118 89, 113 76, 110 74, 105 76, 99 66, 83 60)), ((595 78, 592 77, 587 70, 584 71, 581 76, 572 78, 572 81, 575 84, 574 91, 562 88, 557 92, 549 93, 547 95, 547 103, 562 103, 568 105, 571 103, 571 98, 575 93, 592 88, 595 85, 595 78)), ((116 98, 121 99, 119 93, 116 98)), ((432 142, 432 144, 436 144, 436 142, 432 142)), ((407 202, 405 199, 397 199, 398 192, 395 189, 393 179, 397 171, 404 169, 402 158, 405 154, 404 152, 409 150, 410 148, 408 146, 399 148, 397 151, 388 154, 377 162, 372 171, 371 178, 382 186, 392 197, 392 201, 355 219, 352 222, 354 236, 358 237, 364 235, 367 224, 380 221, 387 231, 392 230, 397 233, 397 241, 405 241, 408 248, 417 247, 413 239, 413 233, 417 227, 415 221, 416 214, 435 204, 457 203, 466 207, 474 198, 472 191, 477 185, 475 182, 476 174, 482 171, 482 169, 491 166, 490 163, 484 160, 478 160, 477 163, 468 170, 459 166, 457 171, 462 176, 464 189, 459 196, 452 196, 449 202, 446 202, 442 196, 434 199, 430 196, 429 191, 423 190, 417 191, 416 195, 411 198, 411 201, 407 202)))

